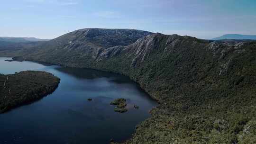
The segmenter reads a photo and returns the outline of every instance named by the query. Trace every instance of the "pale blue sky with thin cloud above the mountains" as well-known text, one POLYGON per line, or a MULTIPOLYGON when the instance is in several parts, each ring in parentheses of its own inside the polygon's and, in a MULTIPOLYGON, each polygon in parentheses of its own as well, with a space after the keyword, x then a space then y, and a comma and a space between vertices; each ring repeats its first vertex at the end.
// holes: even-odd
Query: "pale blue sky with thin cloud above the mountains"
POLYGON ((1 0, 0 36, 132 28, 209 39, 256 35, 256 0, 1 0))

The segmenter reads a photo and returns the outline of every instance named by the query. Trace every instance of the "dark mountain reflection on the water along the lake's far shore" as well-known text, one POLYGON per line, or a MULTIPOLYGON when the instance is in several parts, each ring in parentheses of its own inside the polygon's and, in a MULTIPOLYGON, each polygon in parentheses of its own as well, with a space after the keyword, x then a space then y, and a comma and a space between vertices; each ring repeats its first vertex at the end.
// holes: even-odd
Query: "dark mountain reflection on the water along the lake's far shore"
POLYGON ((57 71, 67 73, 78 79, 97 79, 97 78, 109 78, 110 81, 115 83, 127 83, 132 82, 127 76, 123 76, 113 72, 103 72, 93 69, 80 69, 80 68, 70 68, 70 67, 56 67, 57 71))

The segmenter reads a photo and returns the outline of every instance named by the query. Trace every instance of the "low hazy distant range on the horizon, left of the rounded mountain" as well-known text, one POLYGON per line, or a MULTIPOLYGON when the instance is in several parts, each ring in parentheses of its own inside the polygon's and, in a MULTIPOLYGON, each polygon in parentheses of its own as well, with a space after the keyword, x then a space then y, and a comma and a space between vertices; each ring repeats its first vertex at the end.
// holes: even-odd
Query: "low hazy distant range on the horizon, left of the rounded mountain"
POLYGON ((38 41, 49 41, 50 39, 39 39, 35 37, 0 37, 0 41, 2 42, 13 42, 13 43, 21 43, 21 42, 38 42, 38 41))

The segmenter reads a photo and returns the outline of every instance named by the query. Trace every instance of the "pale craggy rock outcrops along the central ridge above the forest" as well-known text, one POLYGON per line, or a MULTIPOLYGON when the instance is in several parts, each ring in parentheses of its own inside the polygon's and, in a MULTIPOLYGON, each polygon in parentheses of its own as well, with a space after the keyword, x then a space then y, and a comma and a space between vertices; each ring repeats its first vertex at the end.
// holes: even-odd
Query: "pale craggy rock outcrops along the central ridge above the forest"
POLYGON ((157 48, 165 46, 165 51, 172 50, 182 41, 182 36, 178 35, 163 35, 160 33, 148 35, 139 38, 134 44, 128 46, 116 46, 105 49, 98 57, 98 61, 118 56, 121 53, 127 53, 127 57, 132 57, 131 67, 136 67, 143 63, 157 48), (132 52, 132 54, 131 54, 132 52))

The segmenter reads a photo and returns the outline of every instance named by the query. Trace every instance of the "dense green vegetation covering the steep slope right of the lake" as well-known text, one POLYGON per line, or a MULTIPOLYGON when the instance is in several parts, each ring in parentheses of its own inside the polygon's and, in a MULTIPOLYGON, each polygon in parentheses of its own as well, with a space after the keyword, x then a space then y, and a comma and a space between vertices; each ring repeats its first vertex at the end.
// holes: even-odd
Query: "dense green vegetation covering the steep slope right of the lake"
POLYGON ((127 52, 94 65, 129 75, 160 102, 126 143, 255 144, 256 43, 179 37, 173 46, 167 37, 157 36, 160 43, 134 68, 127 52))

